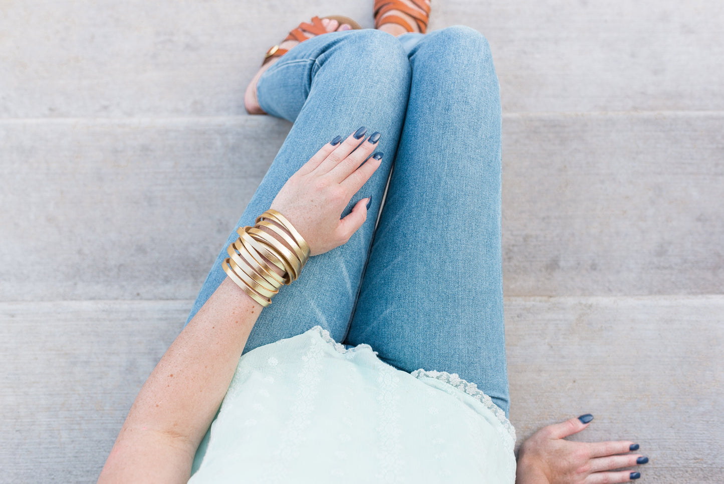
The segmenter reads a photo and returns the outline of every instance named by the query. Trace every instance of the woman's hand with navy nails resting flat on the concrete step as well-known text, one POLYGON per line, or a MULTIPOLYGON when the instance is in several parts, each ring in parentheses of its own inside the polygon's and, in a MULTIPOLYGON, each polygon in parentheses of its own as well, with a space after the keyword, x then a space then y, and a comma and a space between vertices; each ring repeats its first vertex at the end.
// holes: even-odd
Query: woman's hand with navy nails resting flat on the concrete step
POLYGON ((641 477, 639 472, 614 469, 649 462, 630 441, 572 442, 565 437, 581 432, 593 420, 591 414, 543 427, 523 442, 518 454, 516 484, 610 484, 641 477), (584 423, 585 422, 585 423, 584 423), (621 455, 625 454, 625 455, 621 455))

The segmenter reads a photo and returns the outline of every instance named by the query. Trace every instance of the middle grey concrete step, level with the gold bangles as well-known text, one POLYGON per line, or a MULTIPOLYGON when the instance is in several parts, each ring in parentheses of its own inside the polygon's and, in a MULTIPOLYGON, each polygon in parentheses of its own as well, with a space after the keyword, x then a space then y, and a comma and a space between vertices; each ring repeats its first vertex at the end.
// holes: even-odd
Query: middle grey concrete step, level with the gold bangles
MULTIPOLYGON (((505 115, 505 293, 723 293, 723 125, 505 115)), ((0 300, 195 298, 288 128, 0 122, 0 300)))

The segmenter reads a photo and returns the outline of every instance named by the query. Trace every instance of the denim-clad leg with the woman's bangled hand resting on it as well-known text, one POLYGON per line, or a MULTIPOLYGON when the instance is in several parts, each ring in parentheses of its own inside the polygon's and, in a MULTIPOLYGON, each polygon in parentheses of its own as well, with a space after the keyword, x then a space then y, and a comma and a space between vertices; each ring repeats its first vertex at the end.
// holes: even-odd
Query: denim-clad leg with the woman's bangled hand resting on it
MULTIPOLYGON (((311 38, 264 72, 257 87, 259 104, 264 111, 284 117, 294 125, 237 227, 253 225, 287 179, 324 143, 336 135, 346 137, 362 125, 366 126, 367 135, 374 131, 382 133, 378 151, 387 156, 342 216, 366 196, 371 196, 369 212, 376 214, 392 154, 397 149, 410 75, 407 56, 397 39, 376 30, 334 32, 311 38)), ((337 341, 345 338, 375 219, 369 217, 345 245, 311 258, 300 278, 279 290, 271 306, 261 312, 244 353, 298 335, 314 325, 329 330, 337 341)), ((232 230, 224 242, 188 320, 227 277, 221 263, 227 257, 227 246, 237 236, 232 230)))

